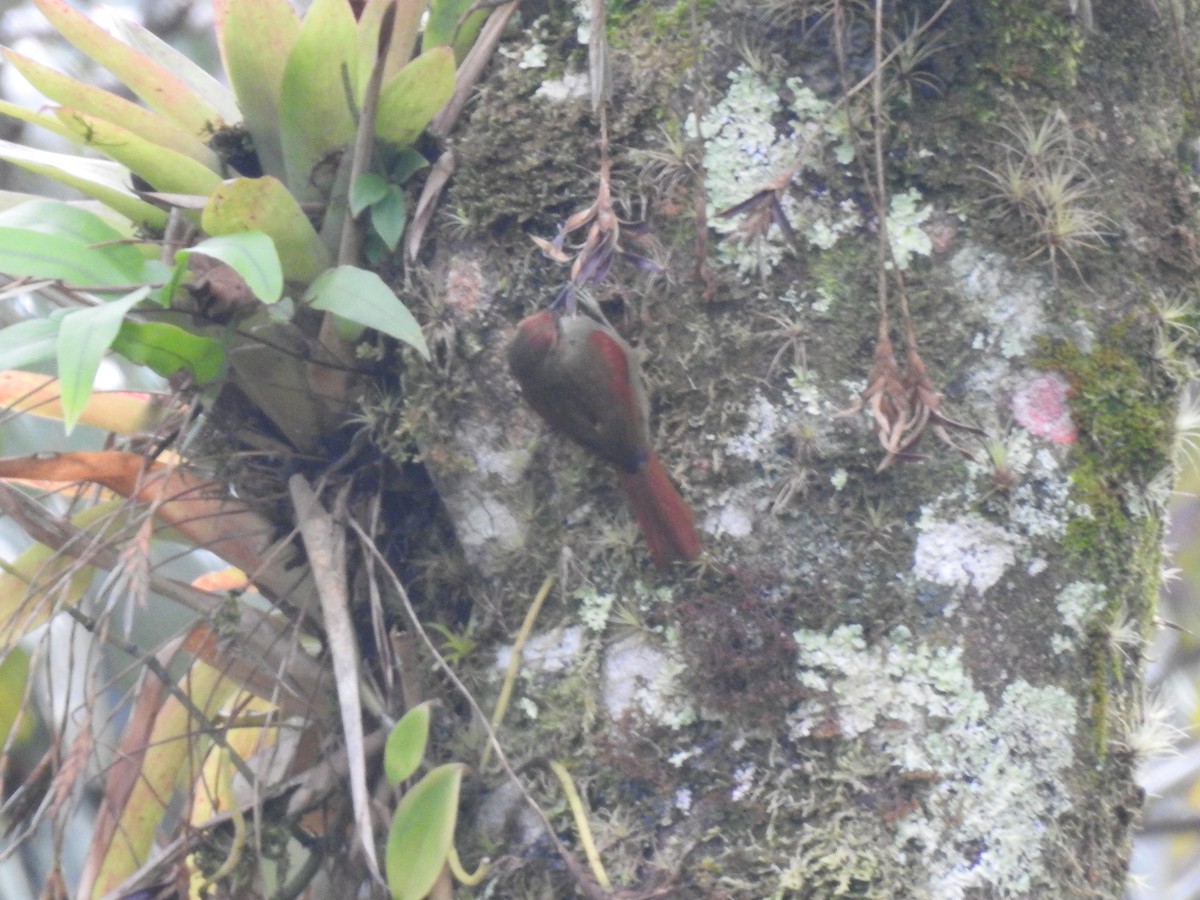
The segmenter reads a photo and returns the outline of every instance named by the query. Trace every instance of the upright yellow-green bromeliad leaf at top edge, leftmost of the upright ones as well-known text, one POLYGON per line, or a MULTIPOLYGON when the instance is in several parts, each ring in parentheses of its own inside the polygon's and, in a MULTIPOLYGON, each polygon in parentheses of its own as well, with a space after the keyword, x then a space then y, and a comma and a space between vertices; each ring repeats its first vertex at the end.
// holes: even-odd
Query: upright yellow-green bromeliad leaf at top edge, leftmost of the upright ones
POLYGON ((221 59, 254 151, 263 172, 282 178, 280 95, 300 19, 288 0, 215 0, 212 8, 221 59))

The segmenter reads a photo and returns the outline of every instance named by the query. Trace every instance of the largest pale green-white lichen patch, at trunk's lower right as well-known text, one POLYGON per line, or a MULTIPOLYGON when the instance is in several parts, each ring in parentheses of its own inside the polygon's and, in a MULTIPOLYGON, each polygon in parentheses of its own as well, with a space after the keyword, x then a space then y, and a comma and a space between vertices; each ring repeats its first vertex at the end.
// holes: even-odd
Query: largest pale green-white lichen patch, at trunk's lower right
POLYGON ((844 740, 874 752, 881 770, 930 785, 895 834, 895 852, 917 854, 926 872, 922 895, 1028 895, 1052 821, 1070 805, 1063 775, 1075 701, 1019 680, 990 708, 961 648, 918 642, 902 626, 876 646, 858 625, 794 637, 802 682, 824 696, 793 714, 793 738, 832 722, 844 740))

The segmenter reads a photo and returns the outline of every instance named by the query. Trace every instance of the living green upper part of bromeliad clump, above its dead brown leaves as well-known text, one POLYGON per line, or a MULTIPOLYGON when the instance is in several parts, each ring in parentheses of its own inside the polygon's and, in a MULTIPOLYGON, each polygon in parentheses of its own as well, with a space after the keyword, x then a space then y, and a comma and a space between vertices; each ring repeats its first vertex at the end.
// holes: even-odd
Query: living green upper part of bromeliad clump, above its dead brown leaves
MULTIPOLYGON (((341 342, 364 326, 426 353, 403 304, 377 276, 354 266, 360 246, 378 260, 404 233, 403 185, 427 166, 414 143, 454 95, 457 62, 481 25, 479 13, 463 18, 469 4, 434 2, 419 32, 421 2, 372 0, 355 19, 346 0, 317 0, 301 19, 286 0, 218 0, 217 40, 232 89, 137 25, 122 24, 121 41, 65 0, 36 5, 149 108, 4 50, 59 106, 30 110, 0 103, 0 113, 110 160, 0 143, 0 158, 102 204, 98 215, 43 205, 4 223, 0 271, 55 282, 66 305, 84 307, 0 332, 0 350, 12 354, 4 356, 5 368, 38 356, 74 360, 71 331, 86 330, 92 340, 83 361, 91 371, 73 372, 64 383, 68 425, 86 403, 100 337, 108 338, 101 352, 116 349, 161 374, 184 368, 211 382, 228 372, 256 388, 260 408, 277 409, 257 390, 257 372, 239 365, 245 342, 220 323, 184 328, 178 314, 163 312, 181 304, 194 311, 194 301, 180 296, 196 269, 193 254, 242 276, 252 300, 236 305, 235 318, 250 319, 250 330, 268 323, 266 331, 295 343, 301 335, 288 340, 293 322, 281 318, 295 320, 305 308, 329 313, 320 332, 328 364, 353 361, 341 342), (361 240, 354 215, 364 210, 373 228, 361 240), (167 241, 161 254, 158 239, 167 241), (137 295, 131 287, 148 289, 137 295), (264 308, 284 292, 298 301, 295 314, 264 308), (101 322, 98 332, 94 319, 101 322), (151 320, 152 330, 144 326, 151 320)), ((10 197, 8 205, 18 199, 10 197)), ((257 338, 259 347, 269 342, 264 334, 257 338)), ((284 388, 289 416, 276 425, 311 449, 330 421, 328 379, 311 366, 292 368, 284 388), (312 400, 314 385, 305 384, 314 379, 320 403, 312 400), (307 413, 295 409, 296 388, 310 397, 307 413)))

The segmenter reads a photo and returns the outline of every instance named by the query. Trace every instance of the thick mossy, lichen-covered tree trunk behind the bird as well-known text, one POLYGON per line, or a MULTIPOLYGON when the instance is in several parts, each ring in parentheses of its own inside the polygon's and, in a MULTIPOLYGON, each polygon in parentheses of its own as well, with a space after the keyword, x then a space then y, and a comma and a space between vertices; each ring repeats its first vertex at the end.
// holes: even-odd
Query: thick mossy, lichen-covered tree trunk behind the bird
MULTIPOLYGON (((658 268, 617 254, 589 290, 702 533, 666 574, 505 366, 570 278, 530 236, 601 166, 580 23, 508 38, 452 145, 445 365, 412 427, 474 569, 485 698, 559 578, 502 740, 568 767, 629 895, 1121 894, 1195 323, 1190 7, 610 12, 612 192, 646 222, 620 250, 658 268)), ((493 895, 572 895, 476 780, 493 895)))

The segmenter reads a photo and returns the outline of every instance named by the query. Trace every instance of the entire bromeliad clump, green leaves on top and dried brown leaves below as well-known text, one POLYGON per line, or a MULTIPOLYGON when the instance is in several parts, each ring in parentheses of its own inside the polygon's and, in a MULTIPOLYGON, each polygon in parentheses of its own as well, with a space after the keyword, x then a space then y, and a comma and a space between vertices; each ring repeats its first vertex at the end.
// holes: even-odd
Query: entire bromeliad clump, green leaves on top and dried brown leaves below
MULTIPOLYGON (((329 764, 308 760, 306 768, 300 754, 286 767, 289 781, 263 779, 280 770, 270 757, 282 751, 274 748, 296 752, 295 742, 281 740, 282 724, 319 738, 317 722, 331 712, 326 659, 337 674, 358 846, 378 878, 362 708, 388 716, 367 679, 359 694, 346 610, 344 494, 331 515, 305 478, 289 480, 306 559, 278 540, 277 522, 190 467, 186 455, 164 450, 186 424, 164 396, 101 392, 94 383, 104 355, 116 353, 193 388, 209 408, 228 394, 242 407, 248 401, 275 426, 271 440, 318 456, 361 388, 355 343, 367 329, 428 355, 412 313, 362 266, 402 245, 415 257, 449 172, 440 158, 430 167, 418 142, 452 126, 515 2, 480 12, 472 0, 314 0, 300 17, 287 0, 215 0, 226 88, 137 25, 122 23, 112 35, 66 0, 34 1, 145 106, 2 50, 53 106, 0 102, 0 114, 88 155, 0 142, 0 158, 90 199, 0 197, 0 275, 10 280, 0 299, 34 295, 41 313, 0 330, 0 404, 62 419, 68 430, 96 425, 126 443, 0 460, 0 508, 37 541, 2 564, 0 658, 64 610, 107 632, 79 611, 95 569, 113 571, 110 586, 134 600, 154 592, 200 616, 158 654, 122 646, 146 677, 120 762, 108 770, 79 895, 174 877, 185 859, 203 875, 193 890, 239 883, 240 851, 208 868, 193 852, 203 842, 197 835, 217 827, 200 820, 223 816, 239 832, 246 809, 259 815, 254 804, 264 799, 287 808, 286 829, 304 856, 313 838, 300 817, 329 797, 319 787, 330 782, 329 764), (409 215, 410 179, 422 169, 428 176, 409 215), (50 361, 56 378, 26 371, 50 361), (60 516, 14 481, 50 493, 84 481, 107 497, 60 516), (299 640, 286 618, 239 602, 226 584, 188 586, 154 572, 156 526, 248 572, 293 614, 319 606, 318 637, 329 654, 299 640), (253 785, 250 806, 235 797, 233 769, 253 785), (148 865, 178 788, 192 794, 192 836, 148 865), (284 791, 290 800, 281 799, 284 791), (222 799, 208 809, 204 797, 222 799)), ((68 779, 71 767, 62 768, 68 779)))

